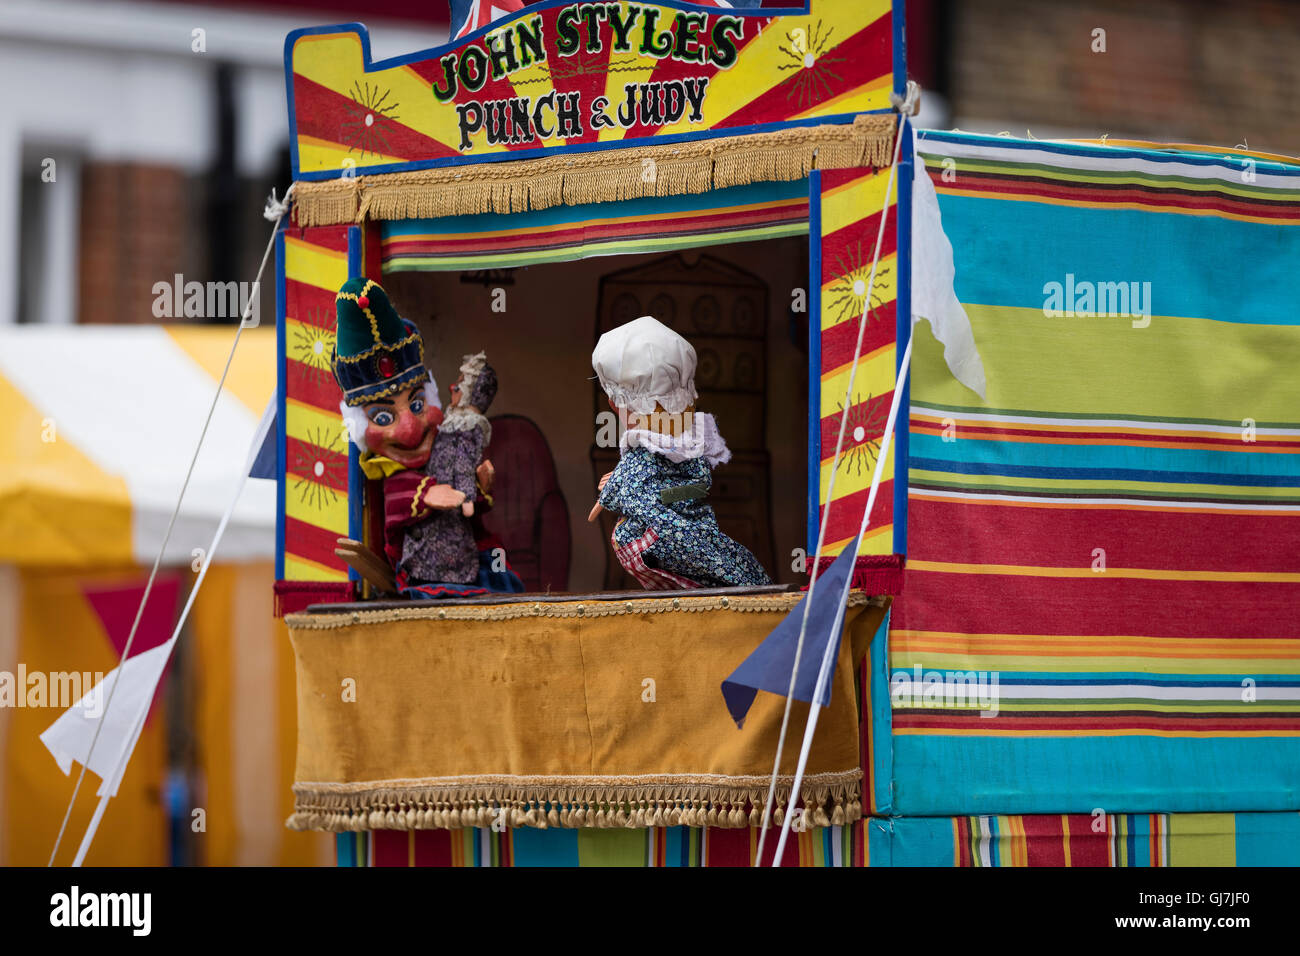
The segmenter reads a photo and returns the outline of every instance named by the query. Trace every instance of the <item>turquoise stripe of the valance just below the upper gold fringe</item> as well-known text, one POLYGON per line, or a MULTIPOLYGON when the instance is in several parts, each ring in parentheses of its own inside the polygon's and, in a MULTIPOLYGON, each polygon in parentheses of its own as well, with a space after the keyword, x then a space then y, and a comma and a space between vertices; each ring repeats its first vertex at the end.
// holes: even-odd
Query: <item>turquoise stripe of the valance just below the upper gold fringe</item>
POLYGON ((385 220, 380 224, 380 234, 384 239, 425 234, 450 238, 464 233, 498 230, 526 233, 543 226, 577 225, 588 220, 604 220, 615 216, 633 216, 653 221, 675 212, 707 212, 731 206, 806 199, 807 194, 807 179, 760 182, 751 186, 732 186, 731 189, 712 190, 698 195, 650 196, 645 199, 624 199, 618 203, 588 203, 585 206, 552 206, 549 209, 537 209, 533 212, 485 212, 476 216, 385 220))

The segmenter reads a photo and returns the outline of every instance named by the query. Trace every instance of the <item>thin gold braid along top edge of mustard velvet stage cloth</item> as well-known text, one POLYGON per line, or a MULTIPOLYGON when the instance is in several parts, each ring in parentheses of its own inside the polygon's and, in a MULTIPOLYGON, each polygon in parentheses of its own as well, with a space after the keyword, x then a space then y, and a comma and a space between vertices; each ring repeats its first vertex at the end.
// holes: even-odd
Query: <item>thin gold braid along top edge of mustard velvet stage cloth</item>
MULTIPOLYGON (((285 615, 285 623, 299 631, 329 631, 352 624, 386 624, 394 620, 516 620, 517 618, 604 618, 615 614, 664 614, 667 611, 788 611, 805 592, 755 594, 753 597, 638 597, 632 601, 537 601, 498 605, 448 605, 419 601, 410 607, 376 611, 318 611, 285 615)), ((849 607, 884 606, 888 597, 849 592, 849 607)))

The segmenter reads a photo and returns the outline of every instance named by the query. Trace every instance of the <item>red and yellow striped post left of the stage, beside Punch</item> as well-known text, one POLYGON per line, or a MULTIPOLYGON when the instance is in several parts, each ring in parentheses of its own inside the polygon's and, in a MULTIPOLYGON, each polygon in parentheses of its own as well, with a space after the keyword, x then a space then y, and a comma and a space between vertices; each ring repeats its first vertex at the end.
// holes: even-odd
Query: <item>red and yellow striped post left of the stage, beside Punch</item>
POLYGON ((283 268, 285 580, 346 581, 334 541, 348 531, 347 437, 330 355, 347 228, 290 230, 283 268))

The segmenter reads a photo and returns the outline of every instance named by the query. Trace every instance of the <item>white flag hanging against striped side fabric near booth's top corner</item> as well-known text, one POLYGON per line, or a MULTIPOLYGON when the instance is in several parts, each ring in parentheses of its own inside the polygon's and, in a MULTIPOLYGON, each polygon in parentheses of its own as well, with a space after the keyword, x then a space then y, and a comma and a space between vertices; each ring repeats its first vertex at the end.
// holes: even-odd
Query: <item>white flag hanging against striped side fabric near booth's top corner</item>
POLYGON ((939 195, 913 135, 911 321, 924 319, 944 346, 944 362, 962 385, 985 398, 984 363, 975 347, 971 320, 957 300, 953 245, 944 234, 939 195))

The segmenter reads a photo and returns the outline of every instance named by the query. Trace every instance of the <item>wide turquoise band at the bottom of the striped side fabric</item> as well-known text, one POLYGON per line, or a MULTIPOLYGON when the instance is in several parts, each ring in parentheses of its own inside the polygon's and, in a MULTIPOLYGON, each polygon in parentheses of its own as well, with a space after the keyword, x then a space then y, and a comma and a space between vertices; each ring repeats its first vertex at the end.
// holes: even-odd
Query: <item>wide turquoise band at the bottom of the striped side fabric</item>
POLYGON ((894 770, 901 814, 1284 810, 1300 737, 904 735, 894 770))

